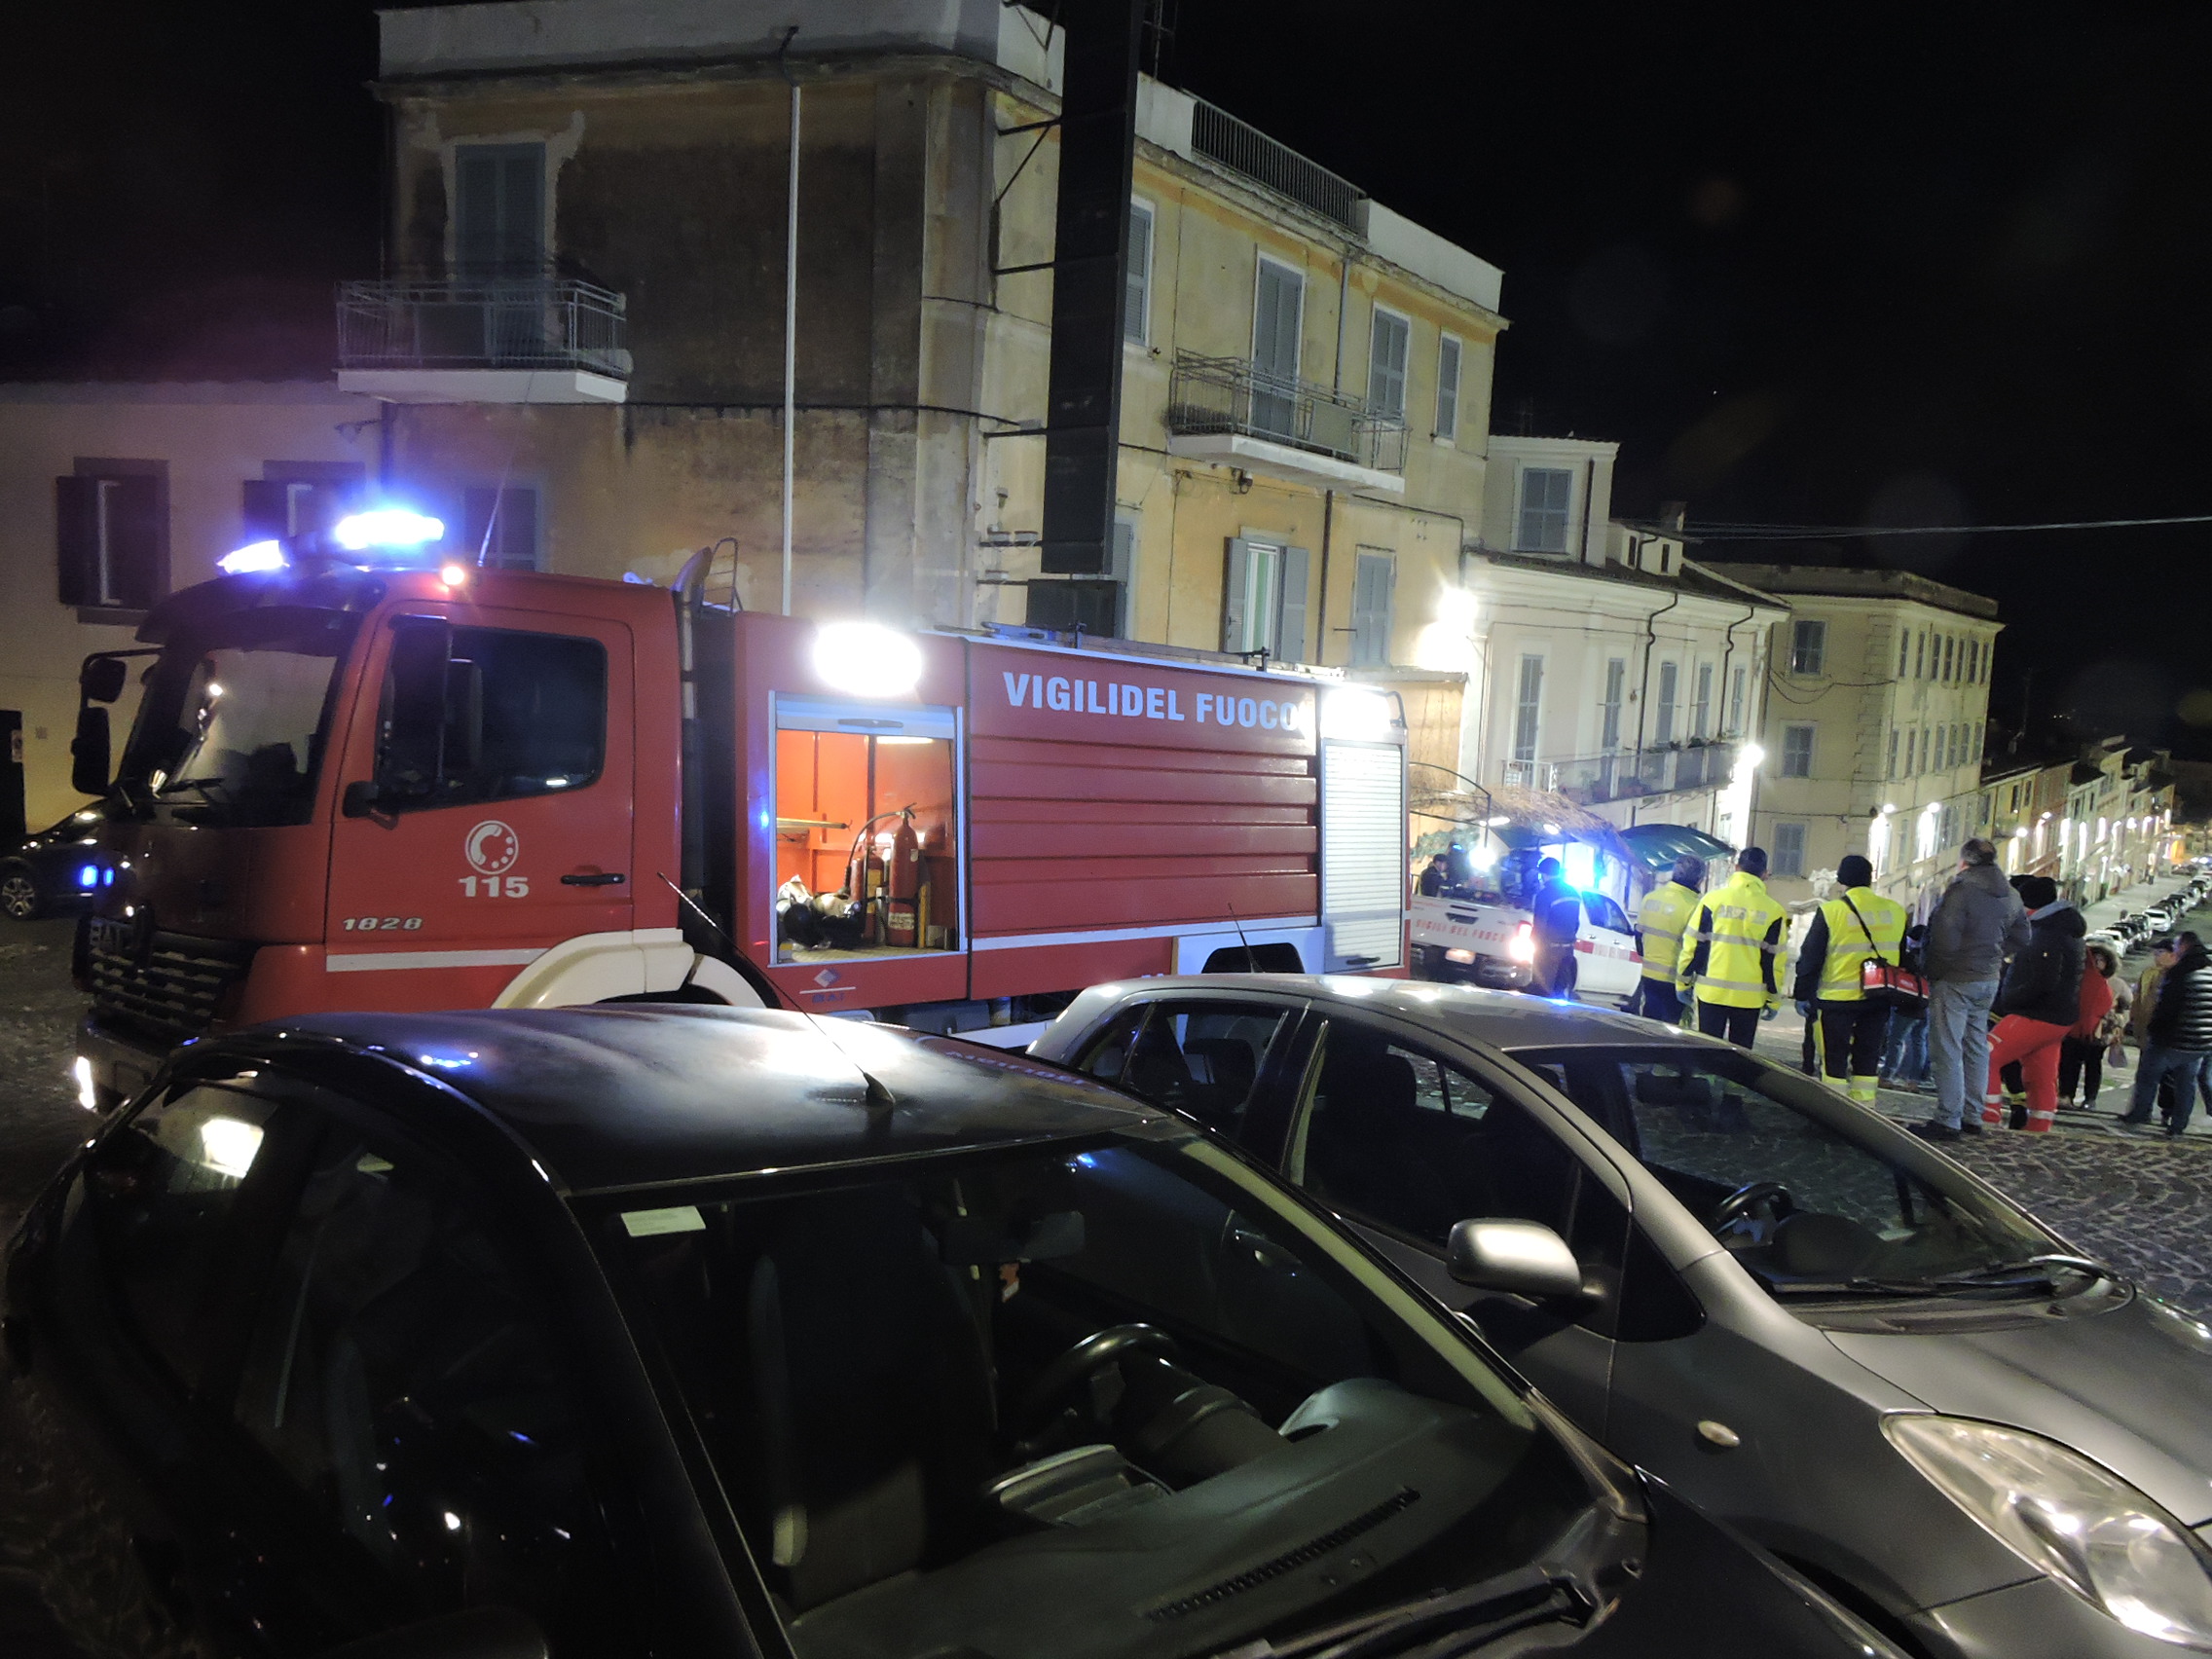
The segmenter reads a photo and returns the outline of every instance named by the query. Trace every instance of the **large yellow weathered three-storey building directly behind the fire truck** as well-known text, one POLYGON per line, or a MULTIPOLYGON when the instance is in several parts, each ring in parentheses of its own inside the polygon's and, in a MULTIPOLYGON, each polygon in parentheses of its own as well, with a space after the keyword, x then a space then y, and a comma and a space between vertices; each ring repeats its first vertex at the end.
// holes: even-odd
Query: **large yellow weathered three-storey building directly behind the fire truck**
MULTIPOLYGON (((1498 268, 1146 77, 1113 571, 1044 575, 1060 33, 998 0, 783 20, 383 15, 400 270, 349 285, 341 380, 385 400, 392 487, 471 529, 502 502, 500 549, 555 571, 717 546, 781 606, 796 246, 794 611, 1411 661, 1480 513, 1498 268)), ((1455 721, 1449 677, 1407 692, 1455 721)))

